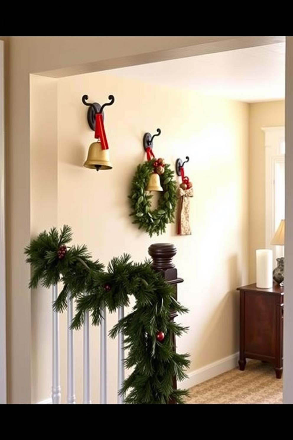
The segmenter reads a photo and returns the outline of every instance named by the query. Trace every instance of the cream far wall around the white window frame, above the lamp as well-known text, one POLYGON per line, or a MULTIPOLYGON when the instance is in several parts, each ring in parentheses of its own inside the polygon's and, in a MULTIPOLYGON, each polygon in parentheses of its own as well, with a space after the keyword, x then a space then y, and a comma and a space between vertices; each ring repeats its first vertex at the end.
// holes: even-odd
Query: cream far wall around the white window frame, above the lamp
POLYGON ((285 125, 285 102, 249 106, 249 281, 256 281, 255 250, 265 247, 265 150, 262 127, 285 125))

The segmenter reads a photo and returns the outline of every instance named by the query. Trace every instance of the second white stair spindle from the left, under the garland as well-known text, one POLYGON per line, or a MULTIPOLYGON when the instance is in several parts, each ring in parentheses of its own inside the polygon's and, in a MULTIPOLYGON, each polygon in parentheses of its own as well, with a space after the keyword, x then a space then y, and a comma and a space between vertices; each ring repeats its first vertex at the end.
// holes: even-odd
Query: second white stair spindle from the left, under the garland
POLYGON ((70 326, 73 318, 73 301, 70 293, 67 295, 67 403, 75 403, 74 368, 73 368, 73 330, 70 326))

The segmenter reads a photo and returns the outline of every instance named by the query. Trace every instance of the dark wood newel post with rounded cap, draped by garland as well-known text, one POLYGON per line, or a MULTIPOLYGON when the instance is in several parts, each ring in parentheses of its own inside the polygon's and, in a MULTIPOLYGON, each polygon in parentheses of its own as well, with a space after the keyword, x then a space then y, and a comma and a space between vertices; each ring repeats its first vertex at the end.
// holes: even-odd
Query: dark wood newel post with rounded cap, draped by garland
MULTIPOLYGON (((163 278, 168 284, 174 287, 174 298, 177 301, 177 284, 183 282, 182 278, 177 278, 177 269, 173 263, 173 257, 177 253, 177 249, 170 243, 156 243, 148 248, 148 253, 152 257, 152 268, 155 271, 161 272, 163 278)), ((170 320, 174 321, 177 313, 170 310, 170 320)), ((176 352, 175 335, 171 335, 173 341, 173 350, 176 352)), ((176 377, 173 378, 173 389, 177 389, 176 377)), ((175 404, 175 400, 171 399, 168 403, 175 404)))

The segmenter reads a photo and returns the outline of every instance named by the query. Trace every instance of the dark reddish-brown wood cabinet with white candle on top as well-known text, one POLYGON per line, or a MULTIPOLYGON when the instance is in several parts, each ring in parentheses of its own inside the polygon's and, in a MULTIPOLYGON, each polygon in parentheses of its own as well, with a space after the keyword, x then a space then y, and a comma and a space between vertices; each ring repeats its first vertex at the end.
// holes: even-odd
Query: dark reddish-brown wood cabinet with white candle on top
POLYGON ((256 284, 238 287, 240 292, 239 368, 245 369, 246 358, 270 362, 276 378, 283 371, 283 287, 274 282, 270 289, 256 284))

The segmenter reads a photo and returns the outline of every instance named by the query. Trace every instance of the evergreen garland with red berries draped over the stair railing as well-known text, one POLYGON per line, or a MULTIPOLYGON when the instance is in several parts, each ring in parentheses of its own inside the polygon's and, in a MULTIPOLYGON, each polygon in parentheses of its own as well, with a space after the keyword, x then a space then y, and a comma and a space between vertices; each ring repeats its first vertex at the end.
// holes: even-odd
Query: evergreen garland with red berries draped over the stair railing
POLYGON ((29 287, 36 288, 39 283, 50 287, 61 282, 63 288, 53 308, 65 311, 69 293, 76 304, 72 320, 72 329, 76 330, 83 325, 85 312, 97 326, 103 308, 116 312, 119 306, 129 306, 130 295, 134 295, 136 303, 130 314, 109 332, 112 338, 120 331, 124 334, 128 350, 124 366, 133 369, 119 394, 125 403, 184 403, 188 392, 173 389, 172 379, 187 378, 189 355, 175 352, 172 333, 181 336, 188 328, 170 321, 170 311, 182 314, 188 310, 174 299, 173 287, 151 268, 148 260, 134 263, 130 255, 124 254, 112 258, 105 271, 103 264, 91 259, 85 245, 69 246, 71 241, 71 228, 65 225, 60 233, 54 227, 30 242, 25 248, 26 262, 33 270, 29 287))

